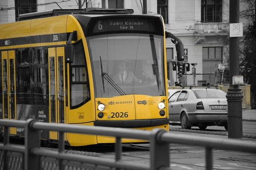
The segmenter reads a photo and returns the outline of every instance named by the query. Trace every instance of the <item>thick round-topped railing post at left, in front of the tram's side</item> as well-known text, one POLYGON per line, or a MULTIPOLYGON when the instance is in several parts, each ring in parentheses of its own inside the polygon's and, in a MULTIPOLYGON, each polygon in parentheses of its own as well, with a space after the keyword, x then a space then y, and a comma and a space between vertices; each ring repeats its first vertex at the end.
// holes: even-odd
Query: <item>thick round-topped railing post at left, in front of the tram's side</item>
POLYGON ((36 119, 28 119, 25 125, 25 170, 40 170, 41 163, 39 156, 32 155, 32 148, 40 148, 41 133, 40 130, 32 129, 32 124, 36 119))

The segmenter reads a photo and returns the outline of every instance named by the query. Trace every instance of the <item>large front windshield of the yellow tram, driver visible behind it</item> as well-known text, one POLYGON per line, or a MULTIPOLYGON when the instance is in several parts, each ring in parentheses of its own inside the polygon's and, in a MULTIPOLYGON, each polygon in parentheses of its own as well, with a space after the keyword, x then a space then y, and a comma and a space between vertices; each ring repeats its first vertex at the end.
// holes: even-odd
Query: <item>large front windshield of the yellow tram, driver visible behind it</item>
POLYGON ((165 95, 162 36, 105 34, 88 37, 87 43, 95 97, 165 95))

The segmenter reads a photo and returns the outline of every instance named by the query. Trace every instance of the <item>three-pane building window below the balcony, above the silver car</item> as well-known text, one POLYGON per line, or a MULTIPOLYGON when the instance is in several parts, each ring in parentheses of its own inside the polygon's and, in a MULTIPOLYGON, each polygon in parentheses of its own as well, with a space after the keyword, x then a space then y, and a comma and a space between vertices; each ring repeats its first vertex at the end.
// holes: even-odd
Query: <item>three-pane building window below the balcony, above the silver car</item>
POLYGON ((222 47, 203 47, 203 59, 222 59, 222 47))

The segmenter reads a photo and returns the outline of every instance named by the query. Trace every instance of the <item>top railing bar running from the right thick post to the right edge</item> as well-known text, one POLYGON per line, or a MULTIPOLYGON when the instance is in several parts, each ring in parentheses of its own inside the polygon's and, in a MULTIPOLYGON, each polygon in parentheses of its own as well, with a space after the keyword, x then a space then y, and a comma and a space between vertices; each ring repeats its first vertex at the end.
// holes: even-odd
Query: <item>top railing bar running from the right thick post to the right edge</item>
POLYGON ((256 153, 256 142, 241 141, 239 139, 216 139, 205 136, 198 137, 187 134, 163 133, 160 136, 160 141, 256 153))

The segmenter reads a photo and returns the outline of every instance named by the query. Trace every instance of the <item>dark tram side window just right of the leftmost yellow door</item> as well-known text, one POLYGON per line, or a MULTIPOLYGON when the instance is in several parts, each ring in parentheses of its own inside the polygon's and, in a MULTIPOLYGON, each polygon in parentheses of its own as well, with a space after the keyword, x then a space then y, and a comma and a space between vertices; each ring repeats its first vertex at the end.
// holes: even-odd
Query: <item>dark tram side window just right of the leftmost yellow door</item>
POLYGON ((17 53, 17 104, 31 104, 29 49, 17 53))

